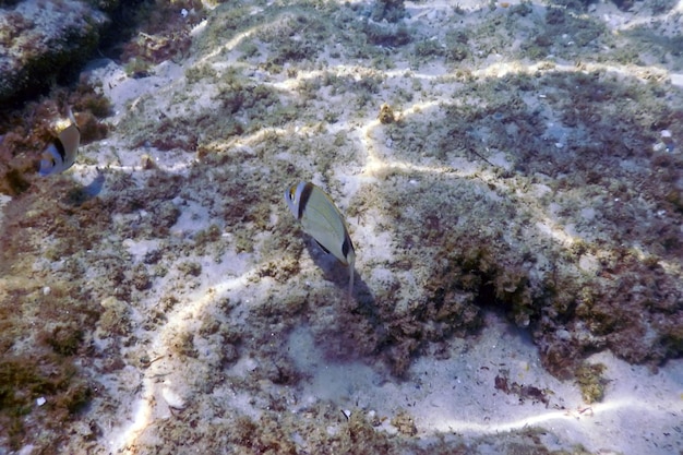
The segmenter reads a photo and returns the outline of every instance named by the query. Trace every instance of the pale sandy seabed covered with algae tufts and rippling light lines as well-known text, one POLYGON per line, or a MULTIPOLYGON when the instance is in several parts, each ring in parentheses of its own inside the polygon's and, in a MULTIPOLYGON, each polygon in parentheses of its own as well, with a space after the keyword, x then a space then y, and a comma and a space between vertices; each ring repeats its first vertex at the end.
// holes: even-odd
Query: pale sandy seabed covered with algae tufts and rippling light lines
POLYGON ((682 14, 229 2, 93 62, 109 136, 0 200, 0 454, 682 453, 682 14))

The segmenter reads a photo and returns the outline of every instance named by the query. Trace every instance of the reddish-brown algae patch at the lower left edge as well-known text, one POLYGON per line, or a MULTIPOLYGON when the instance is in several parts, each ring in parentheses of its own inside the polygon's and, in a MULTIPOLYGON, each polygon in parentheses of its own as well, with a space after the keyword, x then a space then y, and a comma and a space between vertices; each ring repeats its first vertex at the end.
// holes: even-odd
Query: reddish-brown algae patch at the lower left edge
POLYGON ((58 453, 53 444, 62 441, 62 424, 77 419, 97 387, 82 368, 88 349, 80 328, 92 326, 97 314, 59 288, 50 294, 11 288, 0 300, 0 421, 8 429, 5 442, 12 450, 21 448, 40 429, 47 442, 43 450, 58 453), (28 314, 33 309, 41 314, 43 328, 37 333, 28 314))

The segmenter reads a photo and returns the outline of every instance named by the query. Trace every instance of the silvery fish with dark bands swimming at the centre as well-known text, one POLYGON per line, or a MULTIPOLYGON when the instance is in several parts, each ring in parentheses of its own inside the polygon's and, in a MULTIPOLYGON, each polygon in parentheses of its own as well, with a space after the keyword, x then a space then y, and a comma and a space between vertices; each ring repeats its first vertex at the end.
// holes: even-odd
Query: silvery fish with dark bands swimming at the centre
POLYGON ((346 221, 332 199, 311 182, 292 184, 285 191, 285 201, 303 231, 326 253, 334 255, 342 264, 349 266, 349 294, 354 292, 354 264, 356 251, 349 237, 346 221))

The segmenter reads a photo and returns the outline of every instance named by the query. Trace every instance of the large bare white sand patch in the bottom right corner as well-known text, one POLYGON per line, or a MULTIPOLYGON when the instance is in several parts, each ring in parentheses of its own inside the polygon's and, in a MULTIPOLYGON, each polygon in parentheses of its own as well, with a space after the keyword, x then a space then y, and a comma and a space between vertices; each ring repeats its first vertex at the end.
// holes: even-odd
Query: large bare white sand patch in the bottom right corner
MULTIPOLYGON (((310 374, 301 392, 304 406, 332 400, 340 412, 360 408, 387 417, 407 409, 422 438, 438 433, 477 436, 540 427, 555 438, 551 443, 548 436, 551 450, 552 445, 570 450, 583 444, 597 453, 664 455, 672 453, 672 443, 682 431, 676 418, 683 412, 682 360, 670 361, 652 373, 608 352, 595 355, 588 361, 607 367, 607 398, 586 405, 576 384, 548 374, 526 336, 492 314, 477 339, 447 344, 450 359, 417 359, 405 382, 387 381, 359 362, 329 363, 305 327, 291 334, 288 346, 296 352, 297 366, 310 374), (503 372, 510 383, 547 392, 548 405, 496 390, 495 376, 503 372)), ((383 428, 387 426, 388 419, 383 428)))

